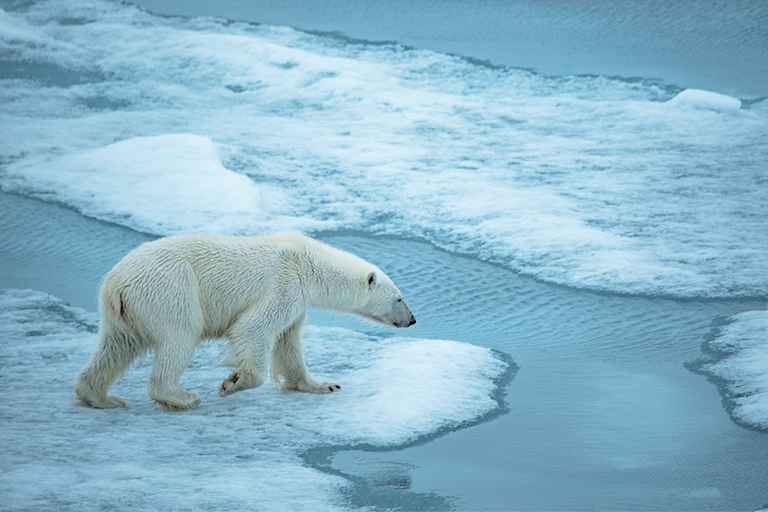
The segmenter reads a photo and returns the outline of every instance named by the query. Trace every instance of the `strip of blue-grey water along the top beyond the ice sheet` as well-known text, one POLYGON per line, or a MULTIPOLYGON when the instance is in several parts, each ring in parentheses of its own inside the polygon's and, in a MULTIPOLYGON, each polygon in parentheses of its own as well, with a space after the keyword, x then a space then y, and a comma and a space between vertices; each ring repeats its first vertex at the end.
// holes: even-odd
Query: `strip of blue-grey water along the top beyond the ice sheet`
POLYGON ((680 87, 768 95, 764 2, 646 0, 139 0, 152 12, 223 16, 396 41, 545 75, 657 78, 680 87))

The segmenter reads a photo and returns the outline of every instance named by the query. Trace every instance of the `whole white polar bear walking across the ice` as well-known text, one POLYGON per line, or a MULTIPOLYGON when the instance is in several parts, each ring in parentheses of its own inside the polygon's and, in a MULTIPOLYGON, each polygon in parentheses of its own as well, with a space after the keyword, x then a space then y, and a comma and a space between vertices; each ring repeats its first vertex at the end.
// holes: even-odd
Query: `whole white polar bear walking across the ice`
POLYGON ((97 408, 124 407, 107 390, 137 357, 154 351, 149 396, 165 410, 194 409, 200 395, 179 378, 204 340, 228 340, 219 388, 229 396, 264 383, 332 393, 304 362, 301 329, 310 307, 409 327, 402 294, 376 266, 299 234, 262 237, 178 235, 130 252, 102 280, 99 342, 74 382, 97 408), (271 364, 270 364, 271 363, 271 364), (282 377, 282 381, 280 378, 282 377))

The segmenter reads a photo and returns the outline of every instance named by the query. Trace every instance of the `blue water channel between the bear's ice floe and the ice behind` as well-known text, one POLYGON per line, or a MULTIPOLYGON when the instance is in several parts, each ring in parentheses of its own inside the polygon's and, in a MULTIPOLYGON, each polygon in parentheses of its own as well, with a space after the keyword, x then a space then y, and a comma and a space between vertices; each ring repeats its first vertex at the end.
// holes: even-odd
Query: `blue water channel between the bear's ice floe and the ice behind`
MULTIPOLYGON (((99 276, 135 244, 152 239, 7 194, 2 218, 2 287, 29 283, 89 310, 99 276)), ((539 283, 422 242, 352 234, 321 239, 377 261, 401 284, 419 318, 409 336, 497 349, 519 366, 503 390, 503 414, 493 414, 492 421, 432 432, 403 446, 308 448, 310 467, 354 482, 339 493, 345 506, 752 510, 764 504, 766 434, 732 422, 716 388, 684 367, 702 357, 702 343, 725 318, 763 302, 595 294, 539 283)), ((392 334, 319 311, 310 323, 392 334)), ((82 352, 85 357, 86 347, 82 352)), ((76 371, 77 361, 69 359, 76 371)), ((192 368, 216 373, 205 359, 192 368)), ((136 389, 134 408, 148 407, 142 404, 148 402, 145 373, 126 379, 136 389)), ((211 380, 206 375, 210 394, 211 380)), ((214 397, 208 400, 204 405, 217 414, 229 410, 214 397)), ((89 416, 91 424, 98 420, 89 416)), ((16 422, 9 416, 5 421, 16 422)), ((47 460, 55 451, 31 450, 57 464, 47 460)), ((225 465, 232 454, 222 456, 225 465)), ((258 472, 258 464, 248 470, 258 472)), ((121 500, 134 503, 129 496, 121 500)), ((258 500, 245 506, 269 509, 258 500)))

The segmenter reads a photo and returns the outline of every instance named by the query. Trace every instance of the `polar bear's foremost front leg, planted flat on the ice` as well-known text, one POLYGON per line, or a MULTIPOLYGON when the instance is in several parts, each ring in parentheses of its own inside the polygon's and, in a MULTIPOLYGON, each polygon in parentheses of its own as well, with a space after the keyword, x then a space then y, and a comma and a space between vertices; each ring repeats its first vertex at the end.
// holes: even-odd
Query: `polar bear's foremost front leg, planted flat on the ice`
POLYGON ((304 362, 304 347, 301 344, 301 329, 306 319, 307 314, 302 314, 277 337, 272 349, 272 383, 286 391, 317 394, 339 391, 341 386, 335 382, 317 381, 309 375, 309 369, 304 362), (280 377, 283 377, 282 383, 280 377))

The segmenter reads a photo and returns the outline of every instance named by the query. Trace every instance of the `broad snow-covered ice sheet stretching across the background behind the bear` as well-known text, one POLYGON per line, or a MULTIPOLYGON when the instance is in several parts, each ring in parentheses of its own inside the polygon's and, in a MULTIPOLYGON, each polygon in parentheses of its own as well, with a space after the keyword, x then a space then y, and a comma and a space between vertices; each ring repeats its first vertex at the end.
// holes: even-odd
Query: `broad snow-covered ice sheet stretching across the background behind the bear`
MULTIPOLYGON (((642 80, 549 78, 98 0, 3 16, 23 34, 3 38, 3 190, 158 235, 353 229, 577 288, 768 295, 765 100, 674 101, 679 90, 642 80), (169 134, 212 140, 218 175, 249 177, 255 189, 236 188, 258 191, 255 206, 218 218, 181 187, 178 214, 134 186, 118 212, 101 199, 115 184, 74 183, 85 160, 169 134)), ((137 157, 157 169, 178 146, 168 152, 137 157)), ((121 183, 148 179, 101 163, 121 183)))

